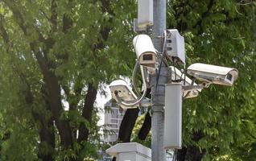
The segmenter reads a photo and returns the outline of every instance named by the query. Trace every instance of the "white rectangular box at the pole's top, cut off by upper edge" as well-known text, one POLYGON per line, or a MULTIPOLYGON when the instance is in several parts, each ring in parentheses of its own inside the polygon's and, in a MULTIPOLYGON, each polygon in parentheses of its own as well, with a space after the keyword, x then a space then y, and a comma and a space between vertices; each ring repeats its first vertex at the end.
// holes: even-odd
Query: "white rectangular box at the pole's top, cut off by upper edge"
POLYGON ((153 25, 153 0, 138 0, 138 28, 153 25))

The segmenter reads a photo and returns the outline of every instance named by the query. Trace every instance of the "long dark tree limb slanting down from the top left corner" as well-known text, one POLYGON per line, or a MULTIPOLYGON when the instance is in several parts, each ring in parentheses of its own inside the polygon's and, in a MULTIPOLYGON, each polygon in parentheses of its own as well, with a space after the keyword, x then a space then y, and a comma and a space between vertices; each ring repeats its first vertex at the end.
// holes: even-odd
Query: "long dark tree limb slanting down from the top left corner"
MULTIPOLYGON (((10 10, 13 12, 14 18, 16 19, 16 22, 19 24, 19 27, 22 29, 24 35, 30 36, 29 33, 27 32, 27 29, 32 29, 33 31, 39 34, 39 40, 43 40, 43 42, 46 43, 45 39, 43 39, 43 36, 35 29, 33 25, 28 25, 27 23, 25 23, 22 13, 19 11, 19 8, 13 1, 4 0, 4 2, 7 6, 9 6, 10 10)), ((64 147, 64 149, 71 148, 72 132, 69 126, 69 122, 67 120, 64 120, 63 118, 60 118, 63 112, 63 108, 61 105, 60 85, 58 79, 56 78, 55 73, 52 72, 50 68, 48 68, 49 64, 47 64, 47 60, 45 59, 45 57, 43 57, 43 55, 47 55, 47 53, 43 53, 42 55, 39 47, 37 47, 36 41, 31 42, 30 47, 31 51, 35 54, 41 71, 43 72, 43 78, 46 82, 47 90, 49 93, 49 102, 51 106, 52 116, 56 122, 57 129, 60 133, 61 144, 64 147)))

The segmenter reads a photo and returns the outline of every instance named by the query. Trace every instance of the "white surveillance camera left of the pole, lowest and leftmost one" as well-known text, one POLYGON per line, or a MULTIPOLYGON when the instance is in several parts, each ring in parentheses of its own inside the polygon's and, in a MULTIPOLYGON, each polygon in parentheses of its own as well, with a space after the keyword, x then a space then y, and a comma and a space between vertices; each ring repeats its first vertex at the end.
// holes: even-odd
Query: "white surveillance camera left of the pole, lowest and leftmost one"
MULTIPOLYGON (((126 81, 123 80, 116 80, 112 81, 109 85, 109 89, 111 91, 112 98, 114 100, 118 101, 118 98, 116 97, 116 94, 122 101, 134 101, 137 99, 136 95, 130 89, 129 85, 127 84, 126 81)), ((120 105, 122 109, 133 109, 137 108, 137 106, 134 107, 127 107, 125 105, 120 105)))

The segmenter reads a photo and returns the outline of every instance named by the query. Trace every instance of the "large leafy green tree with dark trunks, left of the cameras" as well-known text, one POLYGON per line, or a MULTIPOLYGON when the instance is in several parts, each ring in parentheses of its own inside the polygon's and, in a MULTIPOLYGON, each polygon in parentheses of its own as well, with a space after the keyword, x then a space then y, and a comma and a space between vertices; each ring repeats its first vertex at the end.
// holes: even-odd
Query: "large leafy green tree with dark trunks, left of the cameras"
POLYGON ((127 13, 134 2, 3 0, 0 6, 2 159, 96 155, 94 101, 101 82, 133 65, 130 47, 120 52, 133 13, 120 8, 127 13))

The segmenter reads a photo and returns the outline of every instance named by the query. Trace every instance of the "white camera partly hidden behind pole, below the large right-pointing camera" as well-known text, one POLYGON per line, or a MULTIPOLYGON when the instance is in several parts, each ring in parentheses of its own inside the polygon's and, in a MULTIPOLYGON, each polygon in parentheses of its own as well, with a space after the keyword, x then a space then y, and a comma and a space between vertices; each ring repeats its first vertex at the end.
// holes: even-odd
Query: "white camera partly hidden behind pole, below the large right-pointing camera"
MULTIPOLYGON (((188 76, 185 76, 184 73, 180 72, 178 68, 175 68, 174 66, 170 66, 171 68, 171 81, 180 81, 182 85, 185 87, 188 87, 190 85, 193 85, 196 87, 196 83, 192 82, 188 76)), ((201 89, 184 89, 183 90, 183 96, 184 98, 192 98, 197 97, 198 94, 201 92, 201 89)))

